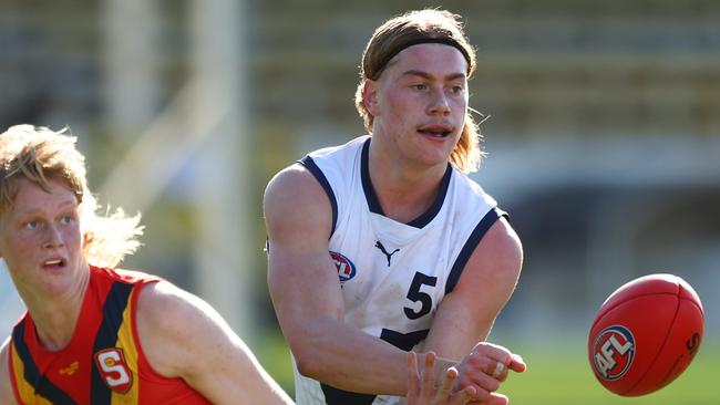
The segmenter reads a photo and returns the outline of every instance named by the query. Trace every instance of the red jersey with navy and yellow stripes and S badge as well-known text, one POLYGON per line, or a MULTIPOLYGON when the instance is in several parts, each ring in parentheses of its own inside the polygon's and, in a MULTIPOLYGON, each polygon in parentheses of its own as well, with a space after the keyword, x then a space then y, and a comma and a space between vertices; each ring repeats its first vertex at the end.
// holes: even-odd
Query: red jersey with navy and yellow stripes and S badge
POLYGON ((70 344, 42 347, 30 313, 16 324, 10 380, 20 404, 209 404, 182 378, 153 371, 143 353, 135 312, 142 287, 158 278, 91 268, 70 344))

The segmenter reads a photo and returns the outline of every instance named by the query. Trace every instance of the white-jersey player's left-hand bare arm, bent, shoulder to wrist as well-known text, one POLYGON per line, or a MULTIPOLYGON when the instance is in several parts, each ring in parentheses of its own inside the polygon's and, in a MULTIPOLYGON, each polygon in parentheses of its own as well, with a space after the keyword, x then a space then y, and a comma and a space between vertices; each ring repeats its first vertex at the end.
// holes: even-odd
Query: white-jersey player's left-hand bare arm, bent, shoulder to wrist
POLYGON ((299 372, 340 390, 404 395, 407 353, 343 321, 328 252, 332 210, 320 184, 291 166, 269 183, 264 208, 270 298, 299 372))

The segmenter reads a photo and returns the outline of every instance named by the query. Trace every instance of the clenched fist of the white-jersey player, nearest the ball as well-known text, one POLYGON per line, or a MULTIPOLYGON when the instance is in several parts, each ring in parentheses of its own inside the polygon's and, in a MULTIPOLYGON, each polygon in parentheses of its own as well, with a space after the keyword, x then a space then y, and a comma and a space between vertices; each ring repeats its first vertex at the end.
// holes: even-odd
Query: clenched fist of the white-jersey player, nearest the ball
POLYGON ((522 373, 527 365, 523 357, 501 345, 480 342, 456 367, 460 376, 453 392, 473 387, 475 393, 471 404, 506 405, 507 397, 496 391, 507 380, 510 371, 522 373))

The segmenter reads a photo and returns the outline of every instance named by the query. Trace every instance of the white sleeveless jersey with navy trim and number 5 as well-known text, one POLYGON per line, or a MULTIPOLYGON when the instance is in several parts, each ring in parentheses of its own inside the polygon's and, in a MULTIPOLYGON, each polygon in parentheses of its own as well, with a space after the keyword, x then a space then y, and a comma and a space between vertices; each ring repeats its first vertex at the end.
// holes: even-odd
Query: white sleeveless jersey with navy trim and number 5
MULTIPOLYGON (((329 249, 342 284, 344 321, 409 351, 425 339, 438 304, 452 291, 487 229, 504 214, 477 184, 449 164, 425 214, 409 224, 383 216, 368 172, 370 142, 370 136, 362 136, 316 150, 300 163, 325 188, 332 206, 329 249)), ((340 391, 300 375, 295 363, 294 367, 298 405, 399 401, 340 391)))

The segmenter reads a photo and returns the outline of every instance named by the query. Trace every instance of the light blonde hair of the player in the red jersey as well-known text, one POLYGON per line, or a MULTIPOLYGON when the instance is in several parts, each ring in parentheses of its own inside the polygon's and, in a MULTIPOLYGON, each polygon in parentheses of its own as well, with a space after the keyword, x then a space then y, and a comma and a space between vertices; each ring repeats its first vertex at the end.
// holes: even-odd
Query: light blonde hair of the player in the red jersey
POLYGON ((75 148, 69 129, 16 125, 0 134, 0 214, 14 205, 17 180, 30 180, 48 189, 49 180, 60 180, 78 197, 83 250, 89 263, 115 267, 132 255, 143 233, 140 214, 127 217, 122 209, 97 215, 96 199, 88 188, 85 157, 75 148))

